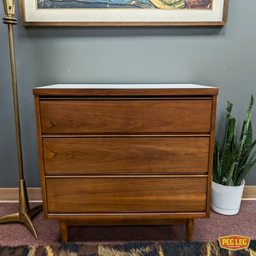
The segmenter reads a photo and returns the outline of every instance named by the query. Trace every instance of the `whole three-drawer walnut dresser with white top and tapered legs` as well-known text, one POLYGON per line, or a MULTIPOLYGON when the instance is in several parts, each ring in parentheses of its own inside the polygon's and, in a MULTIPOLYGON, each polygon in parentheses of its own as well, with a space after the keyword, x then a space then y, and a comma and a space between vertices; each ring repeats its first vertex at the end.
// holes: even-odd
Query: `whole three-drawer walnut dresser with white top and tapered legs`
POLYGON ((71 225, 186 225, 210 217, 218 88, 33 89, 44 218, 71 225))

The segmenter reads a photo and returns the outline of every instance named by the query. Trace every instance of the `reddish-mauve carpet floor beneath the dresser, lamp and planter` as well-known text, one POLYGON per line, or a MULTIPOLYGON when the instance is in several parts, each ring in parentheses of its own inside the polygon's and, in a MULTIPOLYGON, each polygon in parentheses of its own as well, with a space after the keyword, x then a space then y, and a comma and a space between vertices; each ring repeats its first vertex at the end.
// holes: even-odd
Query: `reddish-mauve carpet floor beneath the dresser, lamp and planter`
MULTIPOLYGON (((36 204, 31 204, 31 207, 36 204)), ((0 203, 0 216, 18 212, 18 203, 0 203)), ((20 223, 0 224, 0 246, 24 244, 59 245, 59 221, 44 220, 41 212, 33 218, 38 240, 20 223)), ((193 241, 216 241, 220 236, 239 235, 256 240, 256 201, 242 201, 234 216, 211 213, 210 219, 196 219, 193 241)), ((184 226, 70 227, 68 242, 106 244, 143 241, 184 241, 184 226)))

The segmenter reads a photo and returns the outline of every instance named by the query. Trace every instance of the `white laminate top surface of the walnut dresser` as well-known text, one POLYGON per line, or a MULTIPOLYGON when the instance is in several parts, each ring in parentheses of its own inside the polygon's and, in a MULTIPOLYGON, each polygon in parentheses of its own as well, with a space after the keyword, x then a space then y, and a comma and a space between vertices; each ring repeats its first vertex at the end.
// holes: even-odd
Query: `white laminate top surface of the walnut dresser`
POLYGON ((194 84, 56 84, 36 87, 40 89, 207 89, 216 88, 194 84))

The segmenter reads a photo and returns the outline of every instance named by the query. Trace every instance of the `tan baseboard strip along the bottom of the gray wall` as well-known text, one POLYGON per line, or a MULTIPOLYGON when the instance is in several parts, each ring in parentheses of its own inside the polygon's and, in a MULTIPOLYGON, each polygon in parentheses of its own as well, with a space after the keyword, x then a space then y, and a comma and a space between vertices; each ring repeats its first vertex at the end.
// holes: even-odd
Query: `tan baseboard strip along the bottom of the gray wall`
MULTIPOLYGON (((31 202, 42 202, 41 188, 27 188, 31 202)), ((256 186, 244 186, 242 200, 256 200, 256 186)), ((0 188, 0 202, 18 202, 18 188, 0 188)))

